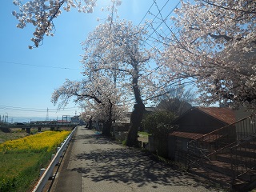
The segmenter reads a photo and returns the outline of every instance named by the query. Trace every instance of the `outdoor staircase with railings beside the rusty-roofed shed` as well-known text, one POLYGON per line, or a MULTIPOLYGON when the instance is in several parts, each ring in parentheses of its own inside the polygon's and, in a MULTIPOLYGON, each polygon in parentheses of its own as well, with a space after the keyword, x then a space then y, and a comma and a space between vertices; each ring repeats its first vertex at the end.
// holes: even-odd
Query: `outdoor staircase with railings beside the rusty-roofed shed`
POLYGON ((202 142, 206 141, 206 138, 189 143, 191 145, 188 158, 190 159, 189 171, 210 178, 230 190, 250 191, 256 188, 256 134, 254 129, 236 142, 226 143, 227 147, 224 146, 214 151, 210 151, 210 147, 207 148, 209 145, 202 142), (198 151, 194 153, 195 146, 206 146, 205 149, 198 147, 198 151, 203 155, 198 155, 198 151))

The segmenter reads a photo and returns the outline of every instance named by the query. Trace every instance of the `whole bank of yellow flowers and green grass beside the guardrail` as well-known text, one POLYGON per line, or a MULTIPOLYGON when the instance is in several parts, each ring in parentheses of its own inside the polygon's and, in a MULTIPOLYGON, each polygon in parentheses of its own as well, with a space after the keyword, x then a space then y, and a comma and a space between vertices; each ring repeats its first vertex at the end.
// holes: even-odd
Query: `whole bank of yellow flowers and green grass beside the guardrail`
POLYGON ((0 191, 29 191, 70 131, 45 131, 0 144, 0 191))

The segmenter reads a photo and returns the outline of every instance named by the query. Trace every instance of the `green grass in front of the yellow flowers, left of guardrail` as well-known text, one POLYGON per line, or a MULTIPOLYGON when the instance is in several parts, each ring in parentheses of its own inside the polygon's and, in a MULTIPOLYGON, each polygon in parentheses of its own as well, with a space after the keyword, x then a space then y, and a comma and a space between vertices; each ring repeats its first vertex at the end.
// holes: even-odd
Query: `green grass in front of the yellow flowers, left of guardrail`
POLYGON ((0 154, 0 191, 27 191, 51 158, 50 152, 0 154))

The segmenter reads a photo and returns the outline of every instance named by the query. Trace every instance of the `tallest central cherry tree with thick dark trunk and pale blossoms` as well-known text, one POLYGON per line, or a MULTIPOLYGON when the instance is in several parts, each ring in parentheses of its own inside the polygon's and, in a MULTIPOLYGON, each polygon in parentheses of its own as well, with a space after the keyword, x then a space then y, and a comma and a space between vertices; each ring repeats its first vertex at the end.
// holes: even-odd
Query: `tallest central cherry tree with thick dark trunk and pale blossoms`
POLYGON ((152 94, 153 74, 148 71, 151 52, 143 46, 147 31, 132 22, 105 22, 82 43, 84 74, 102 71, 118 89, 135 99, 130 119, 127 146, 138 146, 138 127, 145 110, 143 98, 152 94))

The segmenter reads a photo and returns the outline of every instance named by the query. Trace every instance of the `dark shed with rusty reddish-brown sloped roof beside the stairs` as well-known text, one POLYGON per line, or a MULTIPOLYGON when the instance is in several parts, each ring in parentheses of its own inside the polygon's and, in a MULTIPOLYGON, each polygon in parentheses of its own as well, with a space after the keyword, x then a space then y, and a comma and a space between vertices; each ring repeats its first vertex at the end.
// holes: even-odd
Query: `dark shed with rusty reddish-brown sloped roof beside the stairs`
MULTIPOLYGON (((176 159, 181 154, 187 153, 188 142, 201 138, 214 130, 235 122, 234 110, 219 107, 192 107, 186 113, 174 120, 172 124, 178 129, 170 133, 168 138, 168 156, 176 159)), ((233 129, 233 127, 232 127, 233 129)), ((231 130, 229 138, 236 138, 236 131, 231 130)), ((222 139, 225 135, 216 135, 214 138, 222 139)), ((214 142, 214 139, 210 142, 214 142)))

